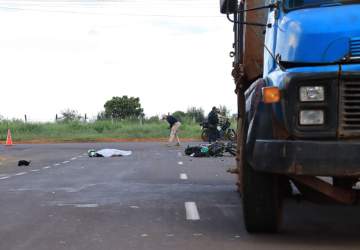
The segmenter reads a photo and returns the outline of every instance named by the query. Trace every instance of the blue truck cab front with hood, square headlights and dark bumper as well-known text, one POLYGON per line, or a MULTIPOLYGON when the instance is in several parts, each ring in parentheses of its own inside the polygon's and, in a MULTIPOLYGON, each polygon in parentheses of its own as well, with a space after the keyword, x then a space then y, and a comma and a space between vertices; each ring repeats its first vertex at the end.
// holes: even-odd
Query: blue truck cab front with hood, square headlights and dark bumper
POLYGON ((343 2, 284 0, 269 11, 263 84, 277 88, 280 99, 263 105, 283 134, 255 143, 255 165, 294 174, 359 172, 350 153, 360 149, 360 2, 343 2), (260 164, 278 150, 287 153, 276 167, 260 164), (304 157, 293 159, 289 150, 304 157))

